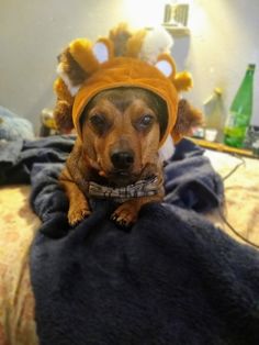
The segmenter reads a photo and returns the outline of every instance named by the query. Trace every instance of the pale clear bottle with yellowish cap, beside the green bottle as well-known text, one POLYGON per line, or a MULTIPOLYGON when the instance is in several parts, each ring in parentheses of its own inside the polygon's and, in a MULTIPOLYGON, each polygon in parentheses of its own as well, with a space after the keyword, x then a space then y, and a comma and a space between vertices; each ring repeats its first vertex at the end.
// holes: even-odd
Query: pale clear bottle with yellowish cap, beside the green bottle
POLYGON ((222 142, 225 109, 221 88, 215 88, 213 90, 213 93, 204 101, 203 110, 205 115, 205 138, 210 140, 209 136, 212 136, 212 141, 222 142))

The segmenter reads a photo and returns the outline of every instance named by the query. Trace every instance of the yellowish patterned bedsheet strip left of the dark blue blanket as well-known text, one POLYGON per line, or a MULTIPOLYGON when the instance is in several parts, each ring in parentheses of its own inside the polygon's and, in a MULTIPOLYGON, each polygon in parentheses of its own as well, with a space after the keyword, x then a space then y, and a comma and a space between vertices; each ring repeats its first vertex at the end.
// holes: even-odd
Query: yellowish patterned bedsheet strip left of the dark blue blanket
POLYGON ((30 190, 21 185, 0 188, 1 345, 37 344, 29 252, 40 220, 30 208, 30 190))

